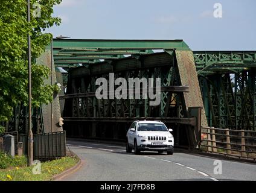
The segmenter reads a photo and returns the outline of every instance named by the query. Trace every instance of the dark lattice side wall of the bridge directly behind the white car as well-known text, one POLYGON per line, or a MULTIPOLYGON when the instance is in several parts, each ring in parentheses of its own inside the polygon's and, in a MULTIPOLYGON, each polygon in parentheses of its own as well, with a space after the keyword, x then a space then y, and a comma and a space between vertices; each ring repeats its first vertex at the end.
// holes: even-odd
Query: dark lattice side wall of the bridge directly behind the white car
MULTIPOLYGON (((173 53, 161 52, 141 55, 138 58, 128 57, 114 60, 112 63, 89 65, 88 68, 81 66, 70 69, 67 93, 60 96, 60 100, 65 99, 63 116, 66 120, 65 127, 69 130, 68 135, 78 136, 84 132, 85 136, 91 138, 124 139, 125 131, 122 127, 127 126, 122 124, 130 124, 130 121, 138 118, 162 119, 170 124, 176 124, 174 127, 179 127, 179 124, 194 126, 195 122, 188 121, 190 118, 183 96, 184 92, 188 91, 188 86, 177 87, 182 84, 178 63, 173 53), (160 77, 160 105, 149 106, 149 100, 142 98, 97 100, 95 80, 99 77, 109 80, 110 72, 115 73, 115 78, 124 77, 126 80, 136 77, 160 77), (111 122, 111 127, 108 122, 111 122), (83 130, 85 127, 88 127, 89 131, 83 130), (112 129, 115 131, 112 132, 112 129), (107 136, 109 133, 112 133, 112 136, 107 136), (121 136, 118 136, 119 134, 121 136)), ((184 131, 177 131, 178 136, 187 136, 184 131)))

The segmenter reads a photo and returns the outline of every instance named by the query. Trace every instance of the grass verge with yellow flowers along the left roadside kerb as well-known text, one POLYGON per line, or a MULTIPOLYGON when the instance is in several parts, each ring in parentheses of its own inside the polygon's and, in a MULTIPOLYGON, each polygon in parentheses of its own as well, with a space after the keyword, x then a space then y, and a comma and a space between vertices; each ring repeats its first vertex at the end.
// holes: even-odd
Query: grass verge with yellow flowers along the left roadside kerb
POLYGON ((42 162, 35 166, 11 166, 7 169, 0 169, 0 181, 48 181, 53 180, 54 175, 60 174, 66 169, 77 164, 79 159, 72 155, 61 159, 42 162), (40 174, 33 174, 33 171, 40 174))

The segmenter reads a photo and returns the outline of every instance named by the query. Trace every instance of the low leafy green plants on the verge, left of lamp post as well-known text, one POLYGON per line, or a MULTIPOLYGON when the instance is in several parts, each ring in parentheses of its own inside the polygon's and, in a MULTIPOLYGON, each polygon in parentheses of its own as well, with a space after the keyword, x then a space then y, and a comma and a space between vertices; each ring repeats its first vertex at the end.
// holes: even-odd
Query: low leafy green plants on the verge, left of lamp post
POLYGON ((0 151, 0 169, 5 169, 11 166, 25 166, 27 165, 27 158, 25 156, 8 156, 0 151))

